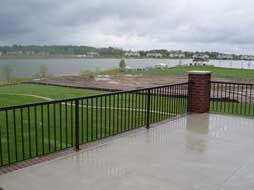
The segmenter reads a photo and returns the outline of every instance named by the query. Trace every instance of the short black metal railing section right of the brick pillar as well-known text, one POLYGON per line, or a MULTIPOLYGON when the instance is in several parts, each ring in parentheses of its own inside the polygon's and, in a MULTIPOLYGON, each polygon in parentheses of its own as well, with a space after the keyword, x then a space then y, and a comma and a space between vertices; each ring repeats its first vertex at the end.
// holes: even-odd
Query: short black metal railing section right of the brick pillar
POLYGON ((210 111, 254 116, 254 84, 210 82, 210 111))

